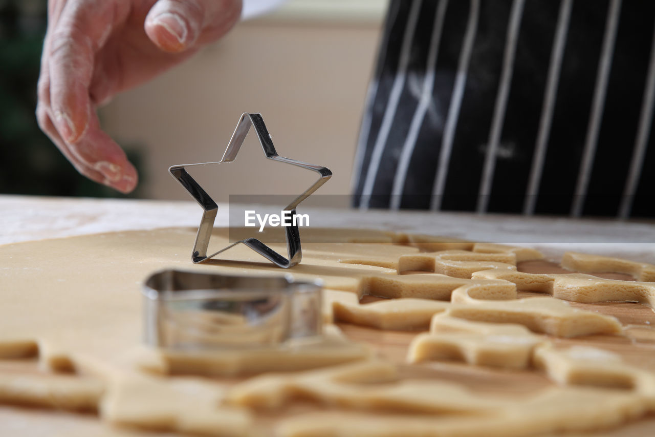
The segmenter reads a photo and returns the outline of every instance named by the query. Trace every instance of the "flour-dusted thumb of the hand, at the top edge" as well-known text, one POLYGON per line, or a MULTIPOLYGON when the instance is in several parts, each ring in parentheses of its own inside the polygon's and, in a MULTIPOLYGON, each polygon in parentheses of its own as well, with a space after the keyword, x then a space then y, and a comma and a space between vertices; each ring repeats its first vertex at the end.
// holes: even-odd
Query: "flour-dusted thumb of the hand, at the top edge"
POLYGON ((216 37, 225 33, 240 9, 236 0, 159 0, 145 18, 145 33, 163 51, 182 52, 193 47, 204 30, 216 37), (223 27, 225 31, 215 31, 223 27))

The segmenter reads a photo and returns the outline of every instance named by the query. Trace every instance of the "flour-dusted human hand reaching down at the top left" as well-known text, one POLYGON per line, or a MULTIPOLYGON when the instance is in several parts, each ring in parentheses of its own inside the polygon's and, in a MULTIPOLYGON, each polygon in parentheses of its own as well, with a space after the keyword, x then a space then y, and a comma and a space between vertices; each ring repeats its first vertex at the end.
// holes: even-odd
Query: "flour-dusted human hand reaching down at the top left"
POLYGON ((131 192, 136 170, 96 106, 225 35, 240 12, 241 0, 49 0, 39 126, 79 173, 131 192))

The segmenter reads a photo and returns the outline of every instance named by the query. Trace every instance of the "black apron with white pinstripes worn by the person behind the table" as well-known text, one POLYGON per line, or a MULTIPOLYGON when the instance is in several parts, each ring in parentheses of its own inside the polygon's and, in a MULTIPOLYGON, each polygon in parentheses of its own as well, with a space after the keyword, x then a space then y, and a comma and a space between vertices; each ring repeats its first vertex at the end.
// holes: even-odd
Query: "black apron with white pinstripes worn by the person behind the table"
POLYGON ((655 217, 655 1, 392 0, 354 205, 655 217))

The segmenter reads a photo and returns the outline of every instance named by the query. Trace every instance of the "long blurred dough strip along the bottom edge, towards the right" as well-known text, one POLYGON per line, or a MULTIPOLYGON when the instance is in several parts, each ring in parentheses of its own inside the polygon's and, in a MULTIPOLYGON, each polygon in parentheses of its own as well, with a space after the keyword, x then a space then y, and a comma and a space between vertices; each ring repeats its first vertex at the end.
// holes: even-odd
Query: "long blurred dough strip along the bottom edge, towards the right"
MULTIPOLYGON (((482 397, 483 395, 480 395, 482 397)), ((485 398, 487 400, 493 397, 485 398)), ((453 402, 458 399, 451 398, 453 402)), ((614 427, 643 415, 645 402, 632 394, 597 388, 551 388, 518 398, 492 415, 434 417, 327 412, 285 419, 280 437, 519 437, 614 427), (593 407, 589 407, 593 406, 593 407)))

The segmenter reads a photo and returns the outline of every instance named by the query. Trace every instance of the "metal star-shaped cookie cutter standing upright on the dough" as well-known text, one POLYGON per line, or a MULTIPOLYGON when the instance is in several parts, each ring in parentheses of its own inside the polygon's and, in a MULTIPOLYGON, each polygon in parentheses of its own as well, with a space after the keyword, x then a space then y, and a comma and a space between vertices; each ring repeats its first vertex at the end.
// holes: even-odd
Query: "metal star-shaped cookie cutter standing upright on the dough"
POLYGON ((296 161, 295 159, 290 159, 287 157, 279 156, 277 152, 275 151, 275 147, 273 146, 273 142, 271 139, 271 135, 269 134, 269 131, 266 129, 266 125, 264 124, 264 120, 261 117, 261 114, 259 113, 253 113, 249 114, 248 112, 244 112, 244 114, 241 115, 241 118, 239 119, 239 122, 236 125, 236 129, 234 129, 234 133, 232 134, 232 138, 230 138, 230 142, 227 144, 227 148, 225 149, 225 154, 223 154, 223 157, 221 158, 220 161, 215 161, 215 162, 204 162, 204 163, 196 163, 196 164, 183 164, 183 165, 173 165, 168 169, 168 173, 172 175, 172 177, 176 178, 178 182, 193 196, 194 199, 200 204, 204 212, 202 213, 202 219, 200 220, 200 226, 198 226, 198 234, 196 234, 196 241, 193 243, 193 254, 191 255, 191 259, 193 260, 194 264, 198 264, 199 262, 204 262, 210 258, 215 257, 221 252, 227 251, 227 249, 230 249, 234 245, 237 245, 239 243, 243 243, 246 246, 250 247, 253 249, 253 251, 259 253, 259 255, 262 255, 266 259, 270 260, 276 266, 282 267, 282 268, 290 268, 298 264, 301 259, 303 258, 303 252, 301 250, 301 244, 300 244, 300 232, 298 230, 297 224, 291 224, 291 226, 285 226, 285 234, 286 234, 286 245, 287 245, 287 253, 288 253, 288 259, 286 259, 284 256, 280 255, 261 241, 259 241, 256 238, 246 238, 241 241, 236 241, 235 243, 232 243, 231 245, 224 247, 223 249, 212 253, 212 255, 207 255, 207 248, 209 245, 209 240, 212 236, 212 230, 214 229, 214 221, 216 218, 216 211, 218 209, 218 205, 216 202, 207 194, 205 190, 202 189, 200 184, 196 182, 189 173, 187 173, 186 168, 187 167, 196 167, 199 165, 210 165, 210 164, 221 164, 225 162, 232 162, 236 158, 236 154, 238 154, 241 145, 243 144, 244 140, 246 139, 246 135, 248 135, 248 131, 250 131, 250 127, 253 127, 255 129, 255 133, 257 133, 257 138, 259 138, 259 143, 261 144, 261 148, 264 150, 264 154, 268 159, 272 159, 274 161, 280 161, 283 163, 288 163, 291 165, 295 165, 296 167, 301 167, 303 169, 308 169, 311 171, 315 171, 320 175, 318 180, 312 184, 305 192, 303 192, 300 196, 297 198, 293 199, 289 205, 287 205, 284 210, 285 211, 291 211, 291 215, 295 216, 295 209, 296 207, 305 199, 309 198, 309 196, 318 190, 320 186, 322 186, 324 183, 327 182, 327 180, 332 176, 332 172, 327 169, 327 167, 322 167, 320 165, 312 165, 308 163, 304 163, 301 161, 296 161))

